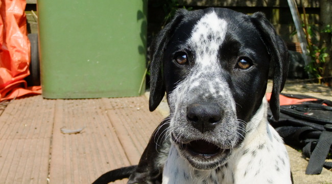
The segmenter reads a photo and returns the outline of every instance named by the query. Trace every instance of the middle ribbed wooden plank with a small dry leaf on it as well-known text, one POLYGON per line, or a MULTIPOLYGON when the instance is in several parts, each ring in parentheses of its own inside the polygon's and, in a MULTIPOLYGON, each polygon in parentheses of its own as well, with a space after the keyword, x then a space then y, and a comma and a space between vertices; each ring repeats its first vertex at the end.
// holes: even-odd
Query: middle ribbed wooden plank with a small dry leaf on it
POLYGON ((57 100, 53 135, 51 184, 91 183, 106 171, 129 165, 101 99, 57 100), (61 133, 62 127, 85 128, 69 135, 61 133))

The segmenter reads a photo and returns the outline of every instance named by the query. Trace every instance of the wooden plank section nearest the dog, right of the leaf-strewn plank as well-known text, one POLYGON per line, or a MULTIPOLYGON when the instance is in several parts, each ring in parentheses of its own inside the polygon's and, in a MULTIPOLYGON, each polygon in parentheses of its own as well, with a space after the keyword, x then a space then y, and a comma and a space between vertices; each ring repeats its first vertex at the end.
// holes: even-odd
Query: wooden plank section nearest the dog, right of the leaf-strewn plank
POLYGON ((138 164, 150 136, 162 120, 161 114, 148 110, 145 96, 103 98, 103 101, 130 163, 138 164))

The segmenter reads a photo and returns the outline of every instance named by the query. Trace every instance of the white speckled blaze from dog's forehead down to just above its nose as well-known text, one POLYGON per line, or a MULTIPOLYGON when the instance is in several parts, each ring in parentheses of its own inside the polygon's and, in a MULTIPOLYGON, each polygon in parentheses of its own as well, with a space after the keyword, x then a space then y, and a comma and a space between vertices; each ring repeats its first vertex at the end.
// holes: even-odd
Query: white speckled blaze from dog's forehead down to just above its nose
POLYGON ((236 113, 235 102, 222 76, 218 60, 219 48, 225 40, 226 31, 226 20, 219 18, 216 12, 207 13, 195 24, 191 38, 186 43, 195 53, 195 66, 170 94, 170 110, 174 116, 181 114, 187 103, 193 102, 192 98, 200 97, 203 100, 209 97, 216 100, 228 99, 229 111, 236 113))

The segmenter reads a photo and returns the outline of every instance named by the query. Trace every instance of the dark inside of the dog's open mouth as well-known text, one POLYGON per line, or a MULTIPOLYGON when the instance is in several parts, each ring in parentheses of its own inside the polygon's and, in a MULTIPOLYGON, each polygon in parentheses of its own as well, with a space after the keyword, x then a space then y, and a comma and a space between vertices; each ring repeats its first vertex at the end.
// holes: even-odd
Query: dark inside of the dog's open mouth
POLYGON ((204 155, 214 155, 221 150, 218 146, 203 140, 192 141, 187 145, 187 148, 196 154, 204 155))

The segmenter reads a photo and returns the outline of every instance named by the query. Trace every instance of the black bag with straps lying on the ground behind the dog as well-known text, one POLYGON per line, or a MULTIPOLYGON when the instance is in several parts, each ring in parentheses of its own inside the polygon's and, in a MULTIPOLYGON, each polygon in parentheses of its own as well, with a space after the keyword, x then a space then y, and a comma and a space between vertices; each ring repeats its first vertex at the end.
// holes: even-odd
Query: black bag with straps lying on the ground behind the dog
POLYGON ((301 149, 303 155, 310 158, 305 174, 320 174, 323 167, 332 168, 332 162, 325 162, 332 153, 332 101, 307 95, 281 95, 315 100, 280 106, 278 121, 269 110, 270 124, 287 145, 301 149))

